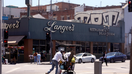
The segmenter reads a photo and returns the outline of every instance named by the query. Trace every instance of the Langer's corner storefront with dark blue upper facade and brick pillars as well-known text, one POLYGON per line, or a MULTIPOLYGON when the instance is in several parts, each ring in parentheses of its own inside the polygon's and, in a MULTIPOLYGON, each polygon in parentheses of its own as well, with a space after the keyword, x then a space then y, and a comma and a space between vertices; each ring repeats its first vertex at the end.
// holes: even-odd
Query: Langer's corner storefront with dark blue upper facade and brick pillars
MULTIPOLYGON (((124 53, 124 22, 119 21, 118 26, 83 24, 47 19, 21 18, 5 21, 9 31, 6 54, 10 58, 10 51, 18 51, 19 62, 28 62, 28 55, 46 51, 46 32, 52 32, 52 53, 54 55, 58 47, 65 50, 73 49, 74 53, 89 52, 100 57, 102 52, 114 51, 112 44, 119 44, 119 51, 124 53)), ((46 51, 47 52, 47 51, 46 51)))

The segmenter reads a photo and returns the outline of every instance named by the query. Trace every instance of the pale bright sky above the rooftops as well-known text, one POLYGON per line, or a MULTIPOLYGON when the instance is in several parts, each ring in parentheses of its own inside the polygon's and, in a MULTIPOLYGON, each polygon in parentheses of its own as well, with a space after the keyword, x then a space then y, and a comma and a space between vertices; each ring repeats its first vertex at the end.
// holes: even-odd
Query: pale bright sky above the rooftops
MULTIPOLYGON (((40 0, 40 5, 50 4, 51 0, 40 0)), ((121 3, 126 2, 126 0, 52 0, 52 3, 57 2, 70 2, 74 4, 80 4, 87 6, 95 6, 95 7, 104 7, 104 6, 111 6, 111 5, 121 5, 121 3)), ((26 7, 25 0, 4 0, 4 6, 14 5, 18 7, 26 7)), ((38 0, 32 0, 32 6, 37 6, 38 0)))

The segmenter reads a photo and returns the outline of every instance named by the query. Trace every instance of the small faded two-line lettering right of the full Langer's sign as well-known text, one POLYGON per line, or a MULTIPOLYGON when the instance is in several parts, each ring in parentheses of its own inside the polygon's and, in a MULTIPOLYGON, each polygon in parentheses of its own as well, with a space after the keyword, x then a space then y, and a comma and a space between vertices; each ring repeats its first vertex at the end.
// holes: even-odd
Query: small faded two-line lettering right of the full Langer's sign
POLYGON ((110 33, 110 32, 106 32, 105 29, 97 29, 97 28, 90 28, 91 32, 98 32, 99 35, 111 35, 111 36, 115 36, 115 33, 110 33))

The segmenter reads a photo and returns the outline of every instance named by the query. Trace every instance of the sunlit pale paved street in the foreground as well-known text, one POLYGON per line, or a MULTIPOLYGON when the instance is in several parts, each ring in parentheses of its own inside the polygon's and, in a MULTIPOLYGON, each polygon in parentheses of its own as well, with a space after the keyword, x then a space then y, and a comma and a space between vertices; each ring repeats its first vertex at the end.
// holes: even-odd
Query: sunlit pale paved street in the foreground
MULTIPOLYGON (((129 63, 116 62, 108 63, 108 66, 103 63, 102 74, 129 74, 129 63)), ((51 65, 48 62, 43 62, 41 65, 30 63, 19 63, 16 65, 2 65, 2 74, 45 74, 51 65)), ((50 74, 54 74, 52 71, 50 74)), ((94 74, 94 63, 81 63, 75 65, 76 74, 94 74)))

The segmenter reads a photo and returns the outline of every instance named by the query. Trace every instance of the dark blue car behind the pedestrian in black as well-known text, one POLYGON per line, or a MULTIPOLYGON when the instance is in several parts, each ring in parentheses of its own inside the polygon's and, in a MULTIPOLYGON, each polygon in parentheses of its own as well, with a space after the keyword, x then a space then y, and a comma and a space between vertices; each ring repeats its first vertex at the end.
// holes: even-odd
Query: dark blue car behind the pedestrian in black
MULTIPOLYGON (((125 60, 127 59, 127 56, 121 52, 109 52, 106 54, 107 56, 107 61, 110 63, 113 63, 115 61, 122 61, 125 62, 125 60)), ((99 61, 102 61, 103 57, 99 58, 99 61)))

